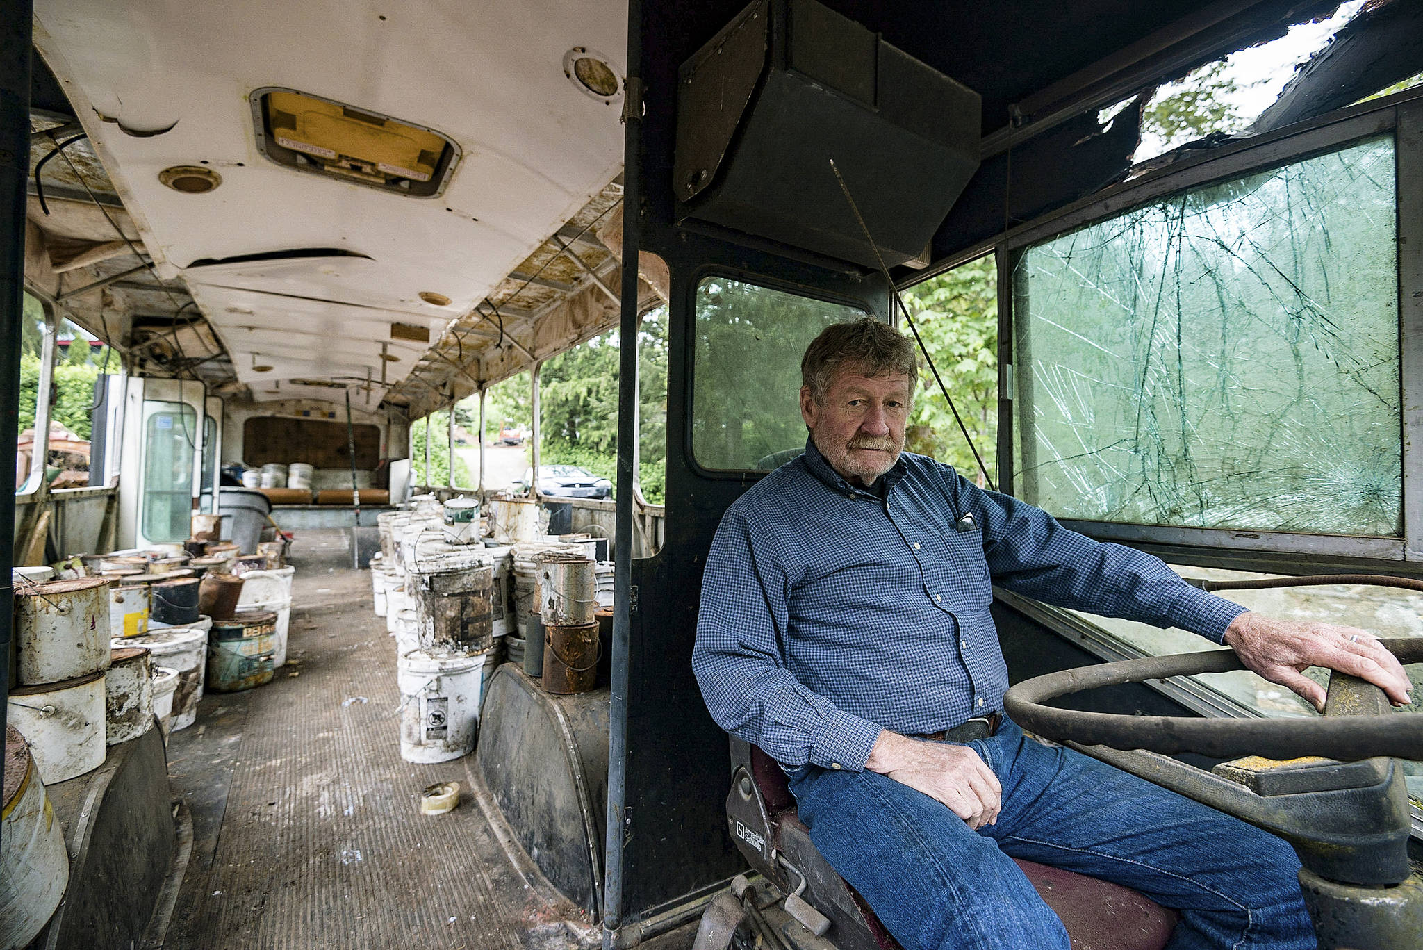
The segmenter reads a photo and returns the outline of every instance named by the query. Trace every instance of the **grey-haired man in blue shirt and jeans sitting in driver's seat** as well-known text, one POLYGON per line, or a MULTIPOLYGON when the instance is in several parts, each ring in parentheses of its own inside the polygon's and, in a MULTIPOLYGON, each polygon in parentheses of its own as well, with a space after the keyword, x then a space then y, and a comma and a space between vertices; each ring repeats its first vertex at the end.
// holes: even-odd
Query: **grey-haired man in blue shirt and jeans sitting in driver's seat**
POLYGON ((906 950, 1069 950, 1022 857, 1180 910, 1174 949, 1315 947, 1282 840, 1003 718, 990 585, 1229 644, 1316 708, 1311 665, 1407 702, 1397 659, 902 453, 918 373, 884 323, 828 328, 801 375, 805 453, 721 518, 693 667, 713 718, 781 763, 815 846, 889 933, 906 950))

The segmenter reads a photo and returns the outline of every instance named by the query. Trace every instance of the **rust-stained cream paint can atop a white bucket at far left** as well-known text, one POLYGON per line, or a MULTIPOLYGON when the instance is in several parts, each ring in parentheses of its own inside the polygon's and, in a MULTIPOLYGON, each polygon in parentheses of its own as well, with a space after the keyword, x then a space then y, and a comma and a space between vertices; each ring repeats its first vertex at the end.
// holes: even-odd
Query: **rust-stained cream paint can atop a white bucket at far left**
POLYGON ((16 585, 20 685, 60 682, 108 668, 111 585, 107 577, 16 585))

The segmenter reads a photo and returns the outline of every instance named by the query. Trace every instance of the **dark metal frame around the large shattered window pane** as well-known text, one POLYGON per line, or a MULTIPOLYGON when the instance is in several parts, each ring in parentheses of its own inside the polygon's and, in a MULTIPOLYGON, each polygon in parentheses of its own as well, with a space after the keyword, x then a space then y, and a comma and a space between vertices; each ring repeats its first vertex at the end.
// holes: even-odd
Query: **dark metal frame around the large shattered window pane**
MULTIPOLYGON (((1372 104, 1370 104, 1372 105, 1372 104)), ((1197 528, 1178 526, 1131 524, 1062 518, 1062 524, 1090 537, 1151 547, 1163 557, 1190 560, 1191 548, 1200 558, 1202 548, 1225 548, 1255 560, 1284 554, 1298 564, 1302 558, 1329 563, 1370 561, 1392 570, 1417 571, 1423 561, 1423 100, 1375 108, 1346 110, 1342 115, 1302 124, 1282 132, 1264 135, 1225 147, 1221 152, 1195 160, 1118 187, 1106 197, 1069 205, 1044 218, 1017 228, 990 248, 999 259, 999 459, 1015 460, 1015 439, 1022 434, 1016 406, 1013 372, 1013 293, 1015 269, 1025 251, 1066 232, 1099 224, 1153 201, 1244 175, 1291 165, 1315 155, 1339 151, 1355 141, 1392 135, 1395 144, 1395 181, 1397 215, 1397 305, 1400 372, 1400 447, 1403 467, 1403 534, 1380 537, 1366 534, 1309 534, 1295 531, 1197 528), (1410 409, 1412 407, 1412 409, 1410 409), (1009 424, 1003 424, 1003 419, 1009 424), (1413 437, 1410 437, 1413 436, 1413 437), (1183 557, 1184 554, 1184 557, 1183 557), (1254 557, 1252 557, 1254 555, 1254 557)), ((982 256, 965 251, 946 266, 982 256)), ((999 490, 1013 491, 1013 464, 1002 464, 999 490)), ((1268 570, 1255 567, 1255 570, 1268 570)), ((1298 567, 1295 568, 1298 573, 1298 567)))

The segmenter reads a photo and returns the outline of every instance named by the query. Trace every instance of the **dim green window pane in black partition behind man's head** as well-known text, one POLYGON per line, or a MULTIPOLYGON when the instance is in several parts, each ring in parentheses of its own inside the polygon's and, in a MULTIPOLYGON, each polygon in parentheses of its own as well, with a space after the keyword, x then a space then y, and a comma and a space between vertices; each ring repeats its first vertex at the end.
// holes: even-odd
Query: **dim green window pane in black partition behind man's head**
POLYGON ((712 276, 697 285, 692 453, 706 469, 776 469, 805 446, 800 360, 844 303, 712 276))

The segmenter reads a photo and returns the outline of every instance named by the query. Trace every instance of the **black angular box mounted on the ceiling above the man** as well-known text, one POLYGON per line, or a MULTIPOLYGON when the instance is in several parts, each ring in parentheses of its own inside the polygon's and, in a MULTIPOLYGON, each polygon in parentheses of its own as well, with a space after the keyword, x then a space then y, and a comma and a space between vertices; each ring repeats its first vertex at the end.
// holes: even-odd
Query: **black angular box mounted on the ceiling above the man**
POLYGON ((757 0, 677 73, 694 218, 875 268, 919 258, 979 165, 978 93, 814 0, 757 0))

